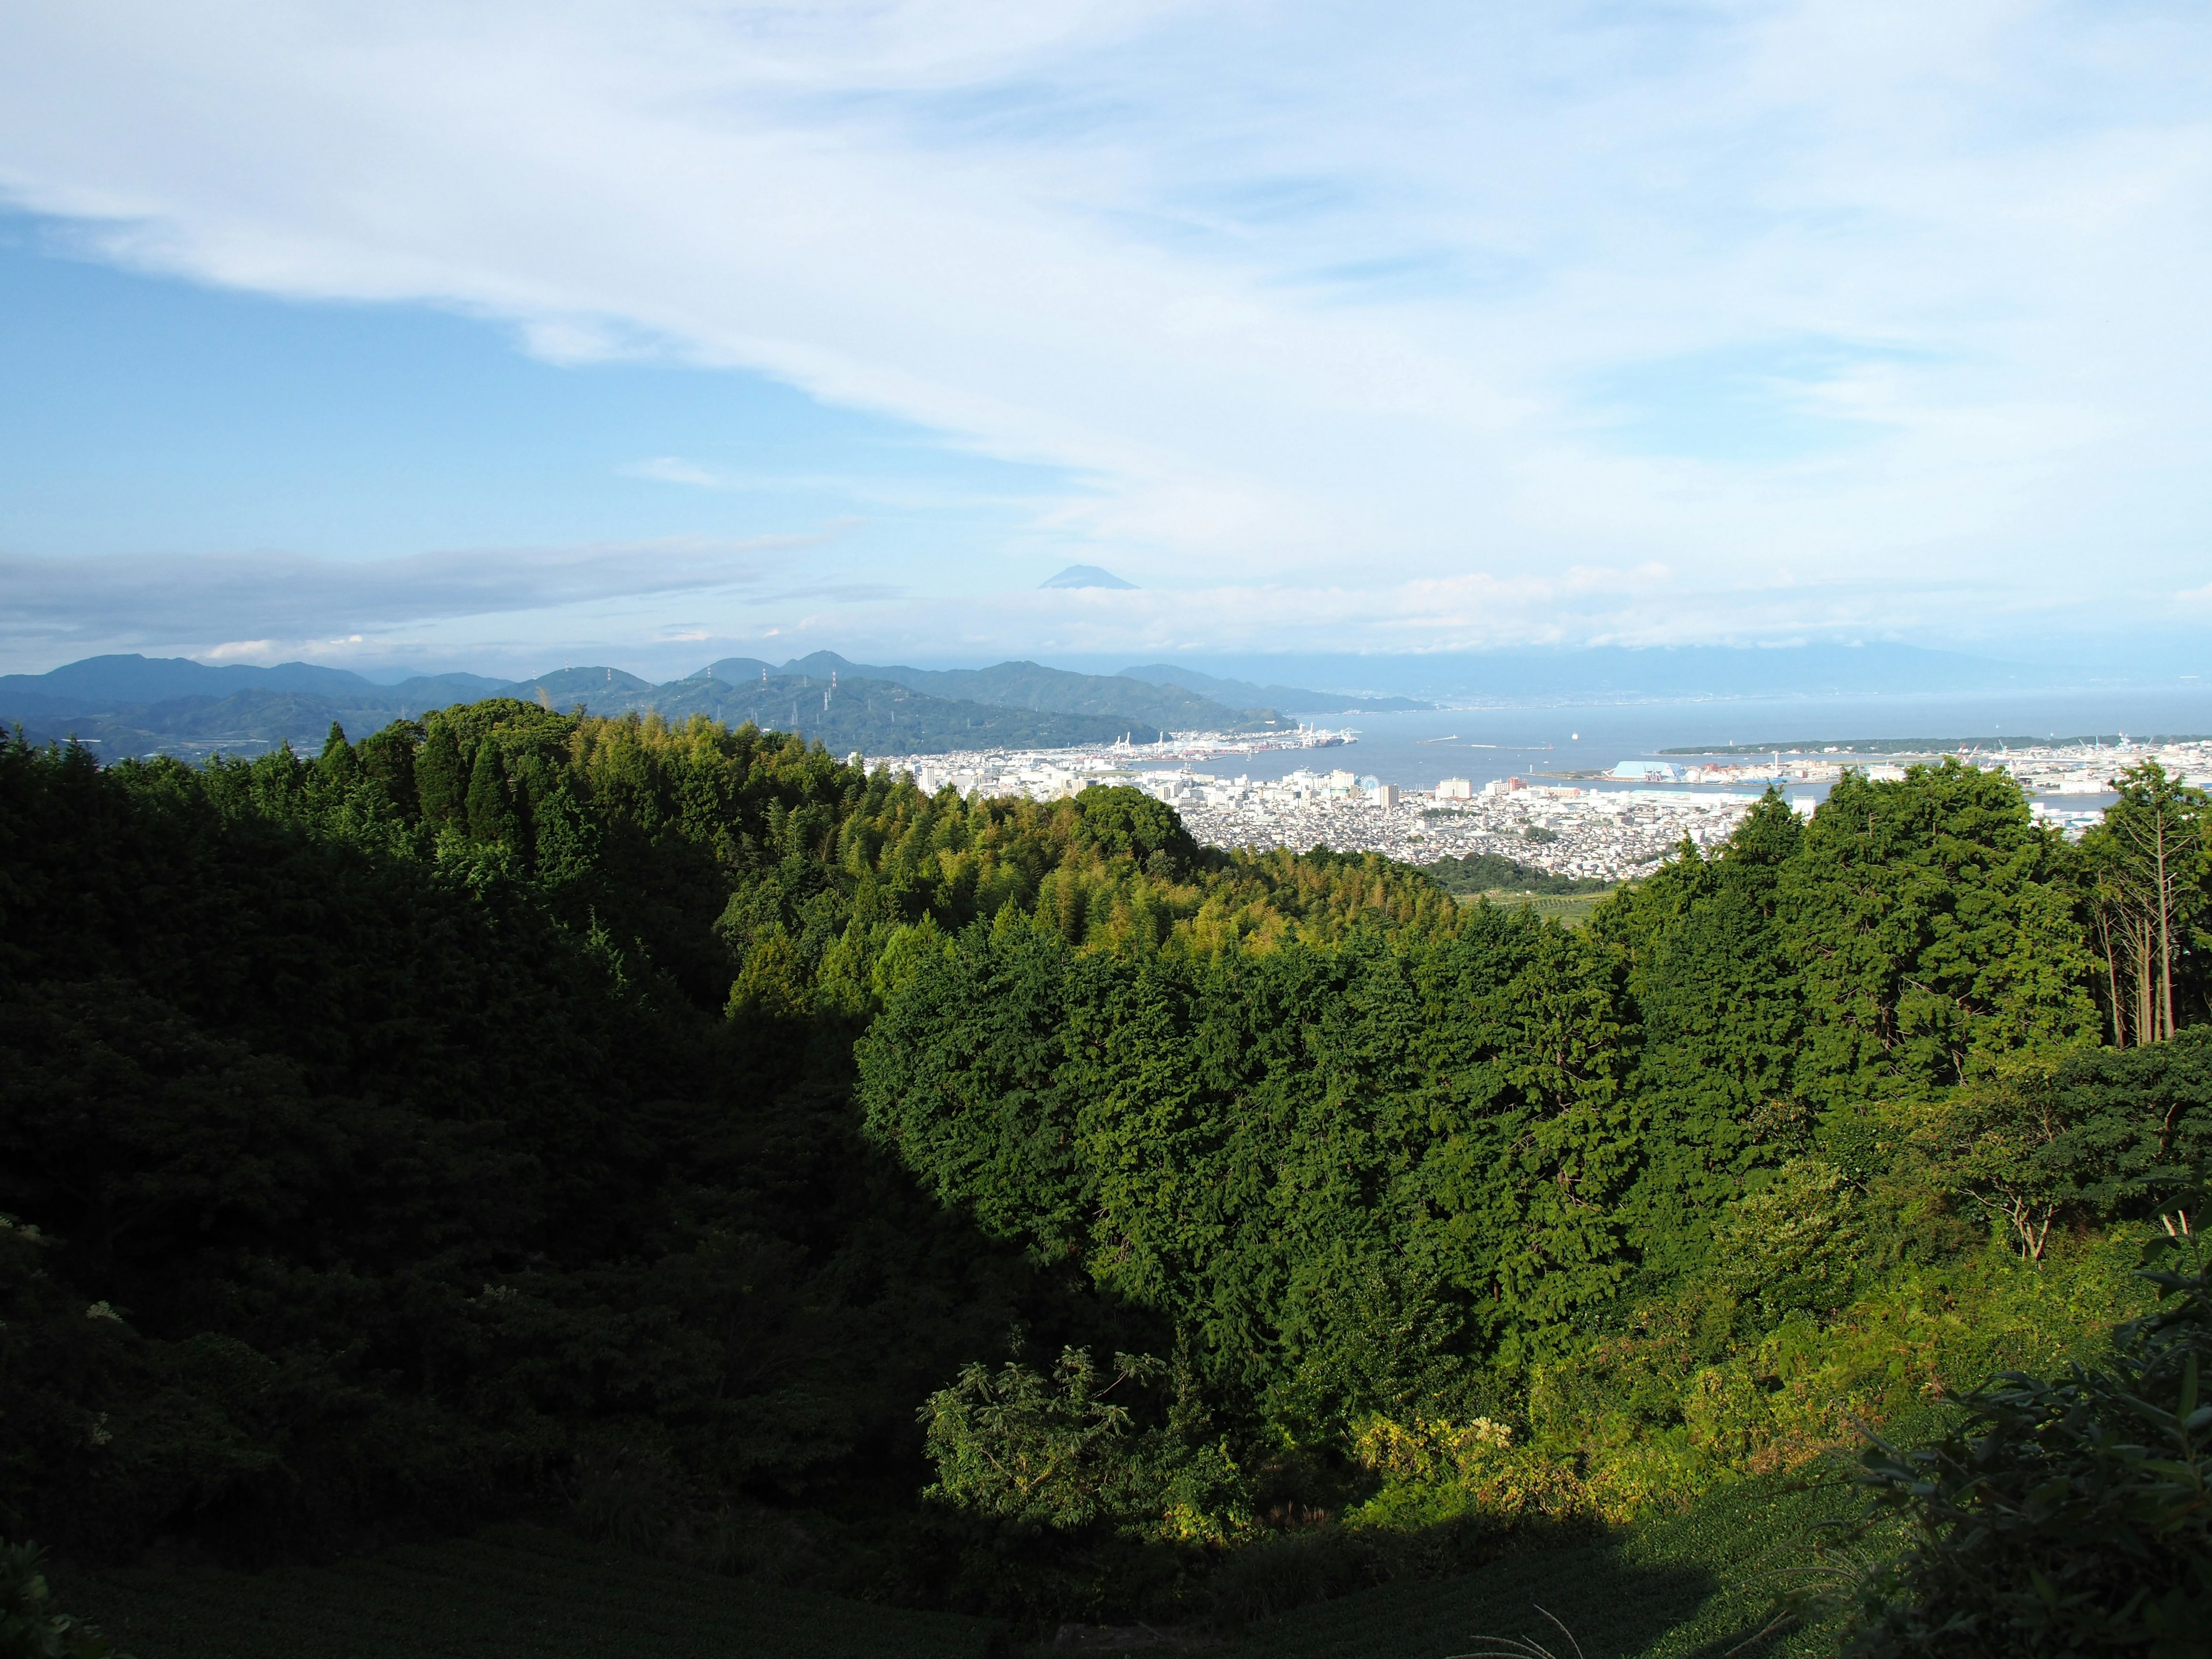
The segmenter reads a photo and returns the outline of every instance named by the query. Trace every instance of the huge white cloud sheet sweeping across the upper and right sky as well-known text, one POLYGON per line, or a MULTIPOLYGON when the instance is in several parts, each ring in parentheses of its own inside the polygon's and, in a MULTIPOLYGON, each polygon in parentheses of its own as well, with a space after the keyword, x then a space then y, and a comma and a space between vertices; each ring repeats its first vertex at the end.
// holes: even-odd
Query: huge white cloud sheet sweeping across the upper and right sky
POLYGON ((1243 595, 1212 626, 1973 633, 2022 588, 2124 617, 2203 551, 2201 7, 84 0, 9 31, 0 188, 108 257, 759 367, 1066 467, 1040 535, 1186 588, 1141 628, 1243 595), (1805 341, 1827 367, 1743 376, 1728 431, 1670 367, 1805 341), (1745 445, 1781 420, 1801 442, 1745 445))

